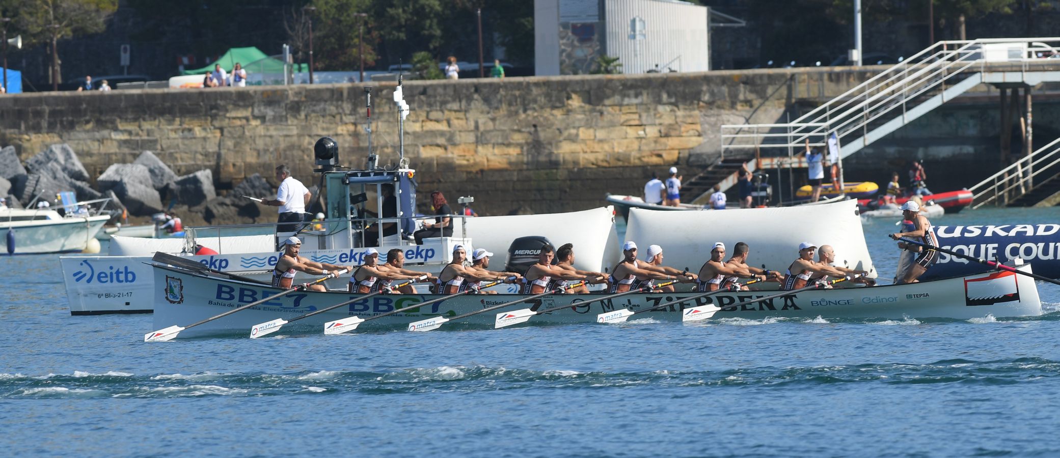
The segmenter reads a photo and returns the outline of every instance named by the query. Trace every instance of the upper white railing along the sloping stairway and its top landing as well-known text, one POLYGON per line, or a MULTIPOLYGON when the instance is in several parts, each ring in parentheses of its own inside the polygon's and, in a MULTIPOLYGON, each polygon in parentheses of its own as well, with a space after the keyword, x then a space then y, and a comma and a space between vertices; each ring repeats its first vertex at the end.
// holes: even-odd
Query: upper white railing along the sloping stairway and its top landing
MULTIPOLYGON (((828 103, 784 124, 737 124, 721 127, 722 154, 736 149, 800 148, 806 140, 823 145, 830 133, 841 143, 861 138, 874 121, 906 116, 911 101, 941 94, 975 72, 1028 72, 1060 69, 1060 38, 987 38, 939 41, 914 54, 828 103), (900 113, 896 112, 901 110, 900 113), (854 137, 858 136, 858 137, 854 137)), ((967 90, 967 88, 961 88, 967 90)), ((776 155, 778 152, 774 152, 776 155)))

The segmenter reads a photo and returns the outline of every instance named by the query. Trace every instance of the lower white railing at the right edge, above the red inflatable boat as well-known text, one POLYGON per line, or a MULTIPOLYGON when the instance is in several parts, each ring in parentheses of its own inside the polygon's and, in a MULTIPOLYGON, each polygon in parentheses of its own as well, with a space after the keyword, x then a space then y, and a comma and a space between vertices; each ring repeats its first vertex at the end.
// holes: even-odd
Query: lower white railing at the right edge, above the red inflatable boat
POLYGON ((1035 177, 1047 172, 1056 173, 1050 170, 1057 164, 1060 164, 1060 139, 1053 140, 969 188, 973 195, 972 208, 977 209, 991 202, 1007 206, 1035 189, 1035 177))

